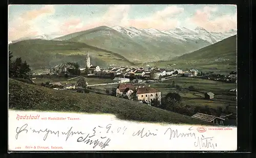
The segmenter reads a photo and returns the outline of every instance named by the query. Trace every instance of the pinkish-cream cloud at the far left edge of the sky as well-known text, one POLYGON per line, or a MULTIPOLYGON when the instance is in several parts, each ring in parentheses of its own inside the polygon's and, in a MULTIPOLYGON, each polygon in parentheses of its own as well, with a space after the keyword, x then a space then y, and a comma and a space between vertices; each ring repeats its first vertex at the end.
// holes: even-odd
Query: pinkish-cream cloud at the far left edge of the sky
POLYGON ((37 25, 38 20, 54 13, 55 9, 52 5, 46 5, 38 10, 24 12, 9 23, 8 40, 43 34, 40 26, 37 25))

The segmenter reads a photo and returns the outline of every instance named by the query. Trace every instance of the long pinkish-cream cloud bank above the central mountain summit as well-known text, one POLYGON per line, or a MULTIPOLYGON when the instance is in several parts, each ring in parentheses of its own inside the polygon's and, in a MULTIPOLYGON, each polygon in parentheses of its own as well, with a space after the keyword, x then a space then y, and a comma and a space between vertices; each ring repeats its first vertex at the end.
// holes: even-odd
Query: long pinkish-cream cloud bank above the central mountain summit
POLYGON ((135 27, 141 29, 155 28, 159 30, 172 29, 179 25, 177 15, 184 11, 177 6, 169 6, 161 11, 155 12, 152 16, 141 19, 129 19, 131 5, 111 5, 105 14, 88 24, 84 24, 81 19, 68 19, 60 25, 59 34, 70 34, 73 32, 88 30, 106 25, 113 27, 120 25, 123 27, 135 27))

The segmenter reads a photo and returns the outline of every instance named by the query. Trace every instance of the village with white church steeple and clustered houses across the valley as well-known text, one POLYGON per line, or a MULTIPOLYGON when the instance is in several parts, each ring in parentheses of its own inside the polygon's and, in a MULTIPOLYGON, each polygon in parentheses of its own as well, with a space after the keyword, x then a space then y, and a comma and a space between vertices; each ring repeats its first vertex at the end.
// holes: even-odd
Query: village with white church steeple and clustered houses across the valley
MULTIPOLYGON (((148 104, 148 106, 152 106, 156 103, 161 104, 162 98, 169 92, 180 92, 182 97, 188 98, 184 102, 186 104, 210 104, 211 107, 216 105, 215 102, 218 104, 218 101, 223 100, 225 96, 219 95, 222 96, 222 98, 210 101, 215 99, 215 94, 210 91, 212 87, 208 88, 209 90, 206 88, 205 91, 202 92, 197 89, 196 86, 189 86, 187 88, 183 86, 183 88, 181 88, 181 85, 175 84, 175 81, 176 83, 184 80, 189 82, 192 79, 193 81, 191 80, 191 83, 193 83, 195 80, 200 80, 200 82, 206 81, 206 86, 209 82, 224 84, 237 82, 237 73, 234 71, 230 72, 228 75, 221 75, 211 72, 200 72, 195 68, 188 70, 165 69, 158 68, 157 66, 150 67, 149 65, 145 67, 120 66, 100 68, 99 66, 91 65, 89 52, 87 52, 86 59, 84 60, 84 67, 79 67, 79 75, 71 74, 70 72, 73 72, 71 71, 72 69, 75 69, 73 65, 63 63, 51 68, 50 72, 47 74, 34 73, 32 79, 33 82, 44 84, 44 86, 48 85, 47 87, 54 90, 69 90, 82 93, 94 92, 102 95, 112 95, 134 101, 136 100, 148 104), (81 77, 86 78, 86 84, 84 86, 77 84, 77 80, 81 77), (42 78, 44 78, 44 80, 40 80, 42 78), (192 95, 194 98, 189 95, 192 95), (202 98, 204 100, 203 102, 201 101, 202 98), (195 99, 194 102, 193 99, 195 99)), ((232 88, 228 91, 236 93, 237 89, 232 88)), ((222 106, 226 106, 226 104, 226 102, 221 103, 222 106)), ((215 123, 221 123, 223 125, 224 117, 227 116, 230 116, 230 114, 225 114, 221 118, 219 116, 197 113, 192 117, 209 122, 215 122, 216 119, 219 119, 219 123, 218 121, 215 123)))

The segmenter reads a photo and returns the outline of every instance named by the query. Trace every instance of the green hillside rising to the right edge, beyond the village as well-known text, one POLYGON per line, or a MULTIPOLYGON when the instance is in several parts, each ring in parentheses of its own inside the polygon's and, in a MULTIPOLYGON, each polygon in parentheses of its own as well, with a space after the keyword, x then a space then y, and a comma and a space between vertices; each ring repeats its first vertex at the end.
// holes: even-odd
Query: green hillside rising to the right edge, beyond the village
MULTIPOLYGON (((155 63, 149 63, 154 66, 155 63)), ((228 74, 237 70, 237 35, 226 38, 189 54, 169 61, 158 62, 158 67, 191 69, 228 74)))

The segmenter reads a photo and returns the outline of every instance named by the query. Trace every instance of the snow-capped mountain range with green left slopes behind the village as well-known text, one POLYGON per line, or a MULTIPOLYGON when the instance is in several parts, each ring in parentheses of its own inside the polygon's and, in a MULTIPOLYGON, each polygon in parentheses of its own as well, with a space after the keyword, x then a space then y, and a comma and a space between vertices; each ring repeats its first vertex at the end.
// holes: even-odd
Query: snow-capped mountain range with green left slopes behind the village
MULTIPOLYGON (((85 50, 90 50, 90 56, 97 61, 96 63, 99 66, 107 66, 110 64, 120 64, 118 62, 120 59, 125 62, 129 61, 130 64, 172 60, 236 34, 236 30, 230 30, 225 33, 213 33, 199 27, 195 30, 176 28, 160 31, 156 29, 137 29, 134 27, 124 28, 115 26, 109 28, 101 26, 65 36, 42 35, 23 38, 9 41, 9 45, 10 48, 15 49, 14 55, 23 55, 25 60, 31 58, 29 59, 30 61, 35 61, 31 56, 33 53, 30 47, 33 48, 34 53, 37 52, 33 56, 36 56, 36 54, 47 54, 53 57, 51 60, 55 59, 55 61, 63 60, 63 58, 61 60, 57 59, 59 55, 66 57, 74 55, 84 56, 86 55, 85 50), (31 45, 31 43, 35 45, 31 45), (51 45, 50 48, 49 43, 51 45), (56 47, 54 46, 55 44, 57 44, 56 47), (63 46, 61 47, 60 45, 63 46), (55 56, 56 54, 58 55, 57 57, 55 56)), ((74 59, 68 58, 67 60, 74 59)), ((54 61, 45 61, 36 65, 52 66, 55 63, 54 61)))

